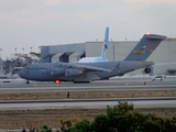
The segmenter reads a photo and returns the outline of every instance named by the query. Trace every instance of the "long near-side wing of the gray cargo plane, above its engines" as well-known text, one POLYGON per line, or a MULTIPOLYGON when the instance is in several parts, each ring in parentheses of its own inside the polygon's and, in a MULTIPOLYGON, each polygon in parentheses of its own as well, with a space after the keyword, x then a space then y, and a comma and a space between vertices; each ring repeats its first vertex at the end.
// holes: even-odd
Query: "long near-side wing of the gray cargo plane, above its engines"
POLYGON ((88 66, 88 65, 82 65, 82 64, 69 64, 69 63, 61 63, 59 65, 68 68, 81 68, 85 70, 92 70, 92 72, 111 72, 111 69, 107 68, 100 68, 100 67, 95 67, 95 66, 88 66))

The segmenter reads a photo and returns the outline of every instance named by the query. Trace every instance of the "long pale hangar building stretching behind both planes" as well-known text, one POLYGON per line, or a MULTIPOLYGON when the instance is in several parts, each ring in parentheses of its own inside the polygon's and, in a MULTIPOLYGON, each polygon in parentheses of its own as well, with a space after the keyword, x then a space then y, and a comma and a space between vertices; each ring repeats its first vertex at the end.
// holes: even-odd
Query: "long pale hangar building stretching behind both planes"
MULTIPOLYGON (((107 51, 108 61, 124 59, 139 41, 110 41, 107 51)), ((103 42, 85 42, 75 44, 41 46, 41 63, 77 62, 82 57, 100 56, 103 42)), ((154 62, 152 67, 154 75, 176 74, 176 38, 164 40, 147 61, 154 62)), ((129 73, 129 75, 143 75, 140 70, 129 73)))

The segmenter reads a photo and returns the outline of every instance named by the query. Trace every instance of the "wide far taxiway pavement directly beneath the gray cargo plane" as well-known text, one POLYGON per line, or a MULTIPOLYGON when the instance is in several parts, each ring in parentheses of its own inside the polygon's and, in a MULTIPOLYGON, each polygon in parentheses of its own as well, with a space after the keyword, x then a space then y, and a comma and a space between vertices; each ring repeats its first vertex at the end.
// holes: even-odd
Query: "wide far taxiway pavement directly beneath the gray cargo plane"
POLYGON ((56 92, 56 91, 119 91, 119 90, 176 90, 176 79, 151 81, 151 79, 112 79, 94 81, 91 84, 0 84, 0 92, 56 92), (145 82, 145 85, 144 85, 145 82))

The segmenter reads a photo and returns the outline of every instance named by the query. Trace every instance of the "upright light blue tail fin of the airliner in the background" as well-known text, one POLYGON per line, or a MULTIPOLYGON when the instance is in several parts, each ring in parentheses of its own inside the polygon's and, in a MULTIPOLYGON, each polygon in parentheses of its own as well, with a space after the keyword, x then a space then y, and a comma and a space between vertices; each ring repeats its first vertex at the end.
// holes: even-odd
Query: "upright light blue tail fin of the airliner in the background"
POLYGON ((109 28, 106 29, 106 35, 103 40, 102 51, 101 51, 101 57, 106 59, 106 51, 109 46, 109 28))

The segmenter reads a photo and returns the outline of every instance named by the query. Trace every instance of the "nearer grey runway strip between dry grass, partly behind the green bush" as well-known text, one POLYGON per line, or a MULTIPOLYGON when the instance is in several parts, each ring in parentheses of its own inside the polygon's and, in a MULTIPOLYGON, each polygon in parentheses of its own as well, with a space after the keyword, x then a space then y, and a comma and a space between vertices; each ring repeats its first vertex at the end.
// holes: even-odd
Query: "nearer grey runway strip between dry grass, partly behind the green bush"
POLYGON ((0 101, 0 110, 30 109, 105 109, 118 101, 133 103, 135 108, 176 108, 175 97, 156 98, 112 98, 112 99, 61 99, 61 100, 6 100, 0 101))

